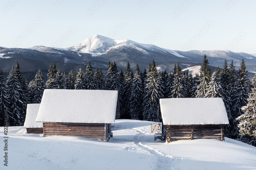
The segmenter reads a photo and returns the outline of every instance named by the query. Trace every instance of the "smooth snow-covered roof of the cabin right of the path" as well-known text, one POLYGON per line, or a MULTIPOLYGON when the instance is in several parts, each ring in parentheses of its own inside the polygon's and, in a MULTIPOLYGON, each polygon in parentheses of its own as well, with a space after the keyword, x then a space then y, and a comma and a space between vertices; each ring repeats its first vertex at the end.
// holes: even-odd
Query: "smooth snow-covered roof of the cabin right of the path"
POLYGON ((163 124, 229 124, 222 98, 160 99, 163 124))

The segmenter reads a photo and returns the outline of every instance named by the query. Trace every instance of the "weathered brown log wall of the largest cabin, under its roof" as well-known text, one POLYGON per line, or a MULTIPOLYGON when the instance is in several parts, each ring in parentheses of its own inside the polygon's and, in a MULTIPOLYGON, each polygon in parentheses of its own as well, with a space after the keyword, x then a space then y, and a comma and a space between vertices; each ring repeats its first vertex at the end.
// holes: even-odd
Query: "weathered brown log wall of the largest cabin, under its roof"
MULTIPOLYGON (((111 125, 110 125, 111 128, 111 125)), ((43 122, 44 136, 79 136, 106 140, 108 124, 105 123, 55 123, 43 122)), ((111 130, 110 130, 111 132, 111 130)))

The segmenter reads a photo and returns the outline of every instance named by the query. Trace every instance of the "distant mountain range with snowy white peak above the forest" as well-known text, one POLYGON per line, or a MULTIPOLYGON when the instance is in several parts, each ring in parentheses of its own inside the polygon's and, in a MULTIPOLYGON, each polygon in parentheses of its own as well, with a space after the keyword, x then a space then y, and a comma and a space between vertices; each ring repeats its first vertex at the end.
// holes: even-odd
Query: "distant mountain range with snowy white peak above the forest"
POLYGON ((238 69, 241 60, 244 59, 247 69, 256 73, 256 53, 234 53, 228 50, 169 50, 131 40, 113 40, 101 35, 93 35, 69 48, 40 45, 31 48, 0 47, 0 66, 4 69, 4 72, 9 72, 11 66, 15 64, 12 63, 15 58, 18 61, 22 59, 23 64, 20 65, 22 71, 25 72, 38 69, 36 67, 40 66, 40 63, 42 63, 41 68, 47 70, 50 64, 54 62, 58 63, 57 67, 60 67, 62 71, 69 72, 72 68, 76 70, 80 67, 85 68, 88 61, 92 63, 94 68, 99 67, 103 70, 106 69, 108 61, 115 61, 119 69, 124 69, 128 61, 132 69, 135 68, 136 63, 139 64, 141 69, 144 69, 154 59, 157 67, 172 71, 175 63, 180 63, 182 69, 199 66, 204 54, 207 55, 209 65, 213 68, 221 68, 224 60, 227 59, 229 63, 233 60, 238 69))

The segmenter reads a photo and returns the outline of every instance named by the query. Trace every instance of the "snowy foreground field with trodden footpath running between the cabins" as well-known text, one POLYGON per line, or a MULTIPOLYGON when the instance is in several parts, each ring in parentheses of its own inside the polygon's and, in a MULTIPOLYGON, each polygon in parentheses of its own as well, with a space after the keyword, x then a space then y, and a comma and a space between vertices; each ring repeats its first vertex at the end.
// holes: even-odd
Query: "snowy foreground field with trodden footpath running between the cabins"
POLYGON ((225 138, 164 143, 151 123, 116 120, 107 141, 26 134, 8 127, 8 167, 3 165, 4 128, 0 127, 0 169, 256 169, 256 147, 225 138))

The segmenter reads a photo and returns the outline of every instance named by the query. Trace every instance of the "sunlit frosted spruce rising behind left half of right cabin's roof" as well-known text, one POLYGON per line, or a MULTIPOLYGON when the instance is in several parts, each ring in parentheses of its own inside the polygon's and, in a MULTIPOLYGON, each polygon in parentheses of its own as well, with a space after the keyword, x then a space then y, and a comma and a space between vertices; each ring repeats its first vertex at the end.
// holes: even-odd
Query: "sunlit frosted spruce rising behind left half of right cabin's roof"
POLYGON ((181 68, 179 66, 179 63, 175 70, 174 75, 174 81, 172 86, 172 96, 169 96, 169 98, 184 98, 184 87, 183 87, 183 74, 181 71, 181 68))

